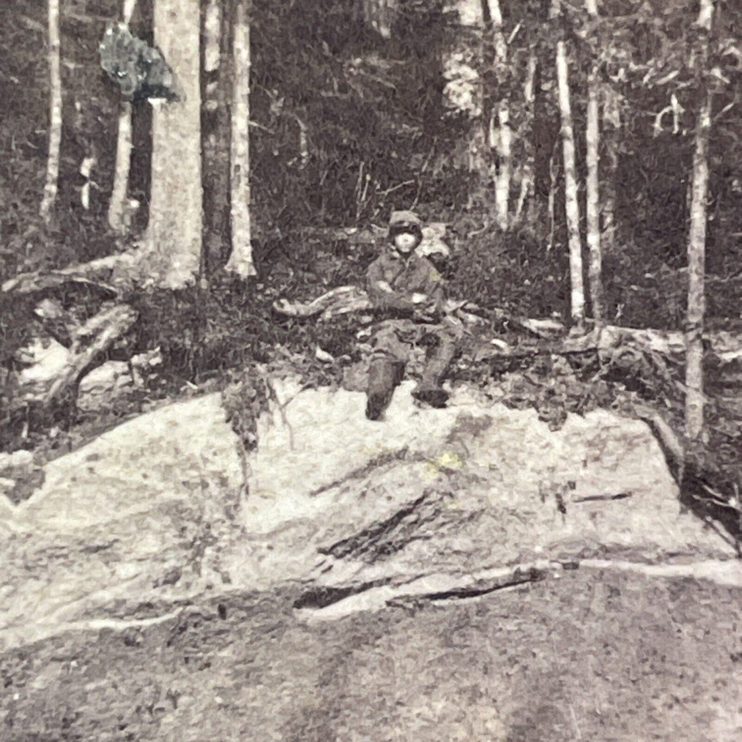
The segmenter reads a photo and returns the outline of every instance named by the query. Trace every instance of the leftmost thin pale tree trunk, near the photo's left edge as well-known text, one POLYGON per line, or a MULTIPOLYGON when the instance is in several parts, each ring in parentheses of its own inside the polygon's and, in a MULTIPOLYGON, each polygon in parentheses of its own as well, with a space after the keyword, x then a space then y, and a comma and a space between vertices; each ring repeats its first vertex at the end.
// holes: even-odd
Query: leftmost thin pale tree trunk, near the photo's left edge
POLYGON ((47 1, 49 60, 49 149, 44 196, 39 212, 49 223, 59 185, 59 151, 62 148, 62 65, 59 36, 59 0, 47 1))

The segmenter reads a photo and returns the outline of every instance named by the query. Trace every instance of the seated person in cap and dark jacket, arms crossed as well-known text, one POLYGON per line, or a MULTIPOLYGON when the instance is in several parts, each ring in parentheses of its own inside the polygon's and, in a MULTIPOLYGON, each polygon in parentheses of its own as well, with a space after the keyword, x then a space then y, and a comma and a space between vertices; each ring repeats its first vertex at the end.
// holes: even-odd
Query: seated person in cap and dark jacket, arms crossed
POLYGON ((389 405, 413 346, 431 343, 422 379, 413 395, 432 407, 444 407, 441 387, 456 354, 459 330, 444 318, 443 279, 416 254, 422 223, 411 211, 394 211, 389 221, 390 245, 369 266, 367 292, 381 320, 372 336, 366 416, 378 420, 389 405))

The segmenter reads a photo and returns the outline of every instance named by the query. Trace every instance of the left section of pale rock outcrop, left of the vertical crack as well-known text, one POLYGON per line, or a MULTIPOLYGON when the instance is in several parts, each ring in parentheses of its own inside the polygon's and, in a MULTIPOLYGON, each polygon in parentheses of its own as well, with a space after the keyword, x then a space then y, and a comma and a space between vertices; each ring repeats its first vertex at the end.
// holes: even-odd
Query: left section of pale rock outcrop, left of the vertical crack
POLYGON ((136 418, 45 469, 30 499, 0 504, 0 646, 151 617, 226 579, 215 547, 243 470, 218 395, 136 418))

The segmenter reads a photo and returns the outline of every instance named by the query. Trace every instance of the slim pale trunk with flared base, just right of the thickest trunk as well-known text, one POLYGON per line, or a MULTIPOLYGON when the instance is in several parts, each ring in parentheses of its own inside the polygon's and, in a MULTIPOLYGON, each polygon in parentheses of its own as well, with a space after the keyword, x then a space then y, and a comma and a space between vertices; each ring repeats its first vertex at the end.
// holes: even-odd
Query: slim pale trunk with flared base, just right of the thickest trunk
POLYGON ((233 44, 232 255, 226 270, 244 279, 257 273, 250 228, 250 21, 246 0, 237 0, 233 44))

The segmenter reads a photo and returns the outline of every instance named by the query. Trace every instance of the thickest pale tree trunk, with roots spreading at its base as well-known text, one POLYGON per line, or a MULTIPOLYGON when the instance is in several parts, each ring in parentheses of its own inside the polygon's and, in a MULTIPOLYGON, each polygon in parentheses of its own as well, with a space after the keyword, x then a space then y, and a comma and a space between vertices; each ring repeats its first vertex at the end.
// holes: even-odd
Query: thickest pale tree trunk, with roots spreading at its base
POLYGON ((201 257, 200 0, 154 0, 154 42, 181 99, 155 104, 148 243, 154 282, 191 283, 201 257))

